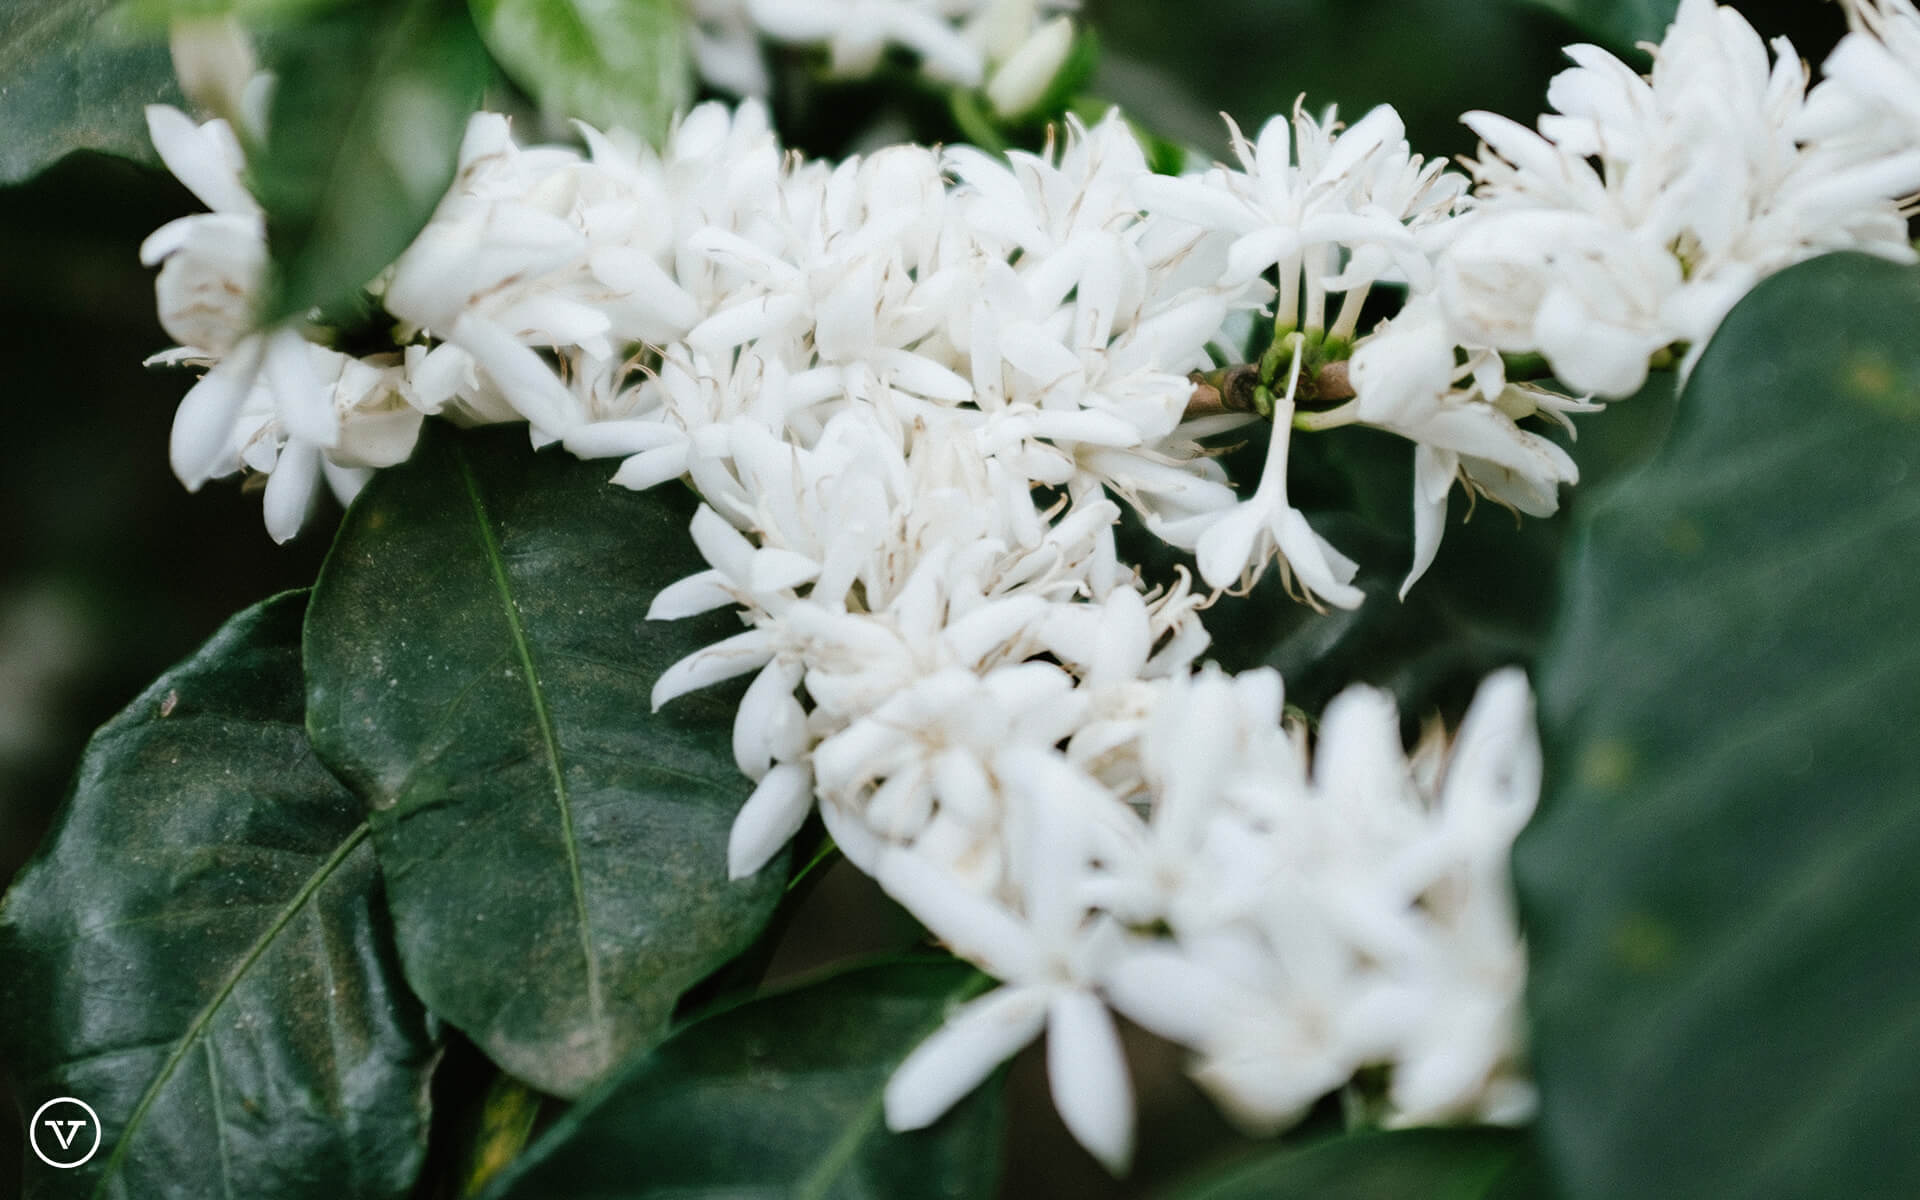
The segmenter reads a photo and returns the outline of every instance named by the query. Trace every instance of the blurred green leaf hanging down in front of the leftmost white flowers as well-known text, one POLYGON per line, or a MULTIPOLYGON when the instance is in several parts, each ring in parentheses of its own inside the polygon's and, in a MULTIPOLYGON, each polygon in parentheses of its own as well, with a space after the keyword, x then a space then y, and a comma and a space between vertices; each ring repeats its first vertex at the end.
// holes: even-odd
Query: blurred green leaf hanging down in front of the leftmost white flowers
POLYGON ((278 84, 253 190, 278 278, 269 319, 359 292, 434 213, 486 48, 455 0, 361 4, 275 40, 278 84))

